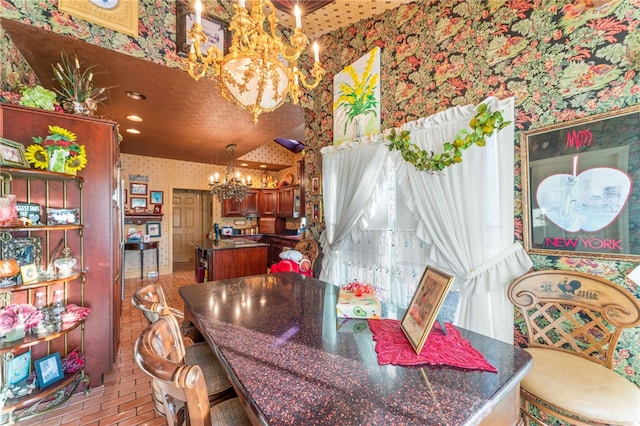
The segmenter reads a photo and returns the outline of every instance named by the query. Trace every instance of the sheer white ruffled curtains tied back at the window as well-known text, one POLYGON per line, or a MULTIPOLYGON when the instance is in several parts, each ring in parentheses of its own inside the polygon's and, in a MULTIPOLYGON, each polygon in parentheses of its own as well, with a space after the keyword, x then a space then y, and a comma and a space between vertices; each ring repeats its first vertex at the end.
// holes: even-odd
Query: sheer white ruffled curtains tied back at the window
MULTIPOLYGON (((513 122, 513 99, 484 102, 513 122)), ((420 148, 438 152, 475 113, 473 105, 451 108, 404 128, 420 148)), ((513 243, 513 140, 512 124, 440 174, 417 171, 397 152, 389 153, 384 142, 350 151, 350 146, 323 149, 328 214, 321 278, 336 285, 367 280, 381 287, 387 300, 407 306, 421 271, 435 266, 456 277, 457 325, 512 342, 506 286, 531 267, 513 243), (369 151, 378 153, 375 161, 363 155, 369 151), (364 176, 366 169, 372 170, 364 176), (359 199, 346 209, 349 197, 359 199)))

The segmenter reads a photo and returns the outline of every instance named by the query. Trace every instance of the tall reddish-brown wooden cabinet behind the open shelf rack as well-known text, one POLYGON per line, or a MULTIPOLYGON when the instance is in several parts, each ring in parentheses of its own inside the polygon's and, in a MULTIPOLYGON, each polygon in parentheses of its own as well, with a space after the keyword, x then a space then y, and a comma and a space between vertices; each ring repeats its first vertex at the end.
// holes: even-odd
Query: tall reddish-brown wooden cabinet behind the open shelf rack
MULTIPOLYGON (((91 309, 84 325, 85 372, 90 377, 91 387, 95 387, 102 384, 103 374, 112 370, 120 338, 123 245, 121 206, 116 202, 120 180, 118 132, 116 123, 111 121, 0 104, 0 136, 6 139, 29 146, 33 143, 32 137, 49 134, 49 126, 60 126, 75 133, 77 142, 84 145, 87 152, 87 167, 78 172, 78 178, 84 180, 81 203, 83 249, 70 248, 75 257, 81 252, 84 254, 82 279, 86 280, 86 285, 83 302, 91 309)), ((24 201, 25 194, 27 192, 16 194, 18 200, 24 201)), ((31 196, 35 199, 36 194, 32 191, 31 196)), ((53 194, 49 196, 53 207, 65 207, 62 197, 54 200, 53 194), (54 201, 57 205, 53 204, 54 201)), ((73 196, 68 191, 66 206, 75 208, 80 205, 70 198, 73 196)), ((21 232, 28 235, 34 230, 21 232)), ((67 241, 74 244, 70 237, 67 241)), ((64 286, 67 292, 77 291, 79 287, 71 283, 64 286)), ((35 297, 32 293, 33 290, 27 291, 28 297, 35 297)), ((72 293, 68 300, 78 303, 81 297, 72 293)), ((66 337, 58 340, 64 341, 66 337)), ((51 345, 51 352, 59 351, 54 343, 51 345)))

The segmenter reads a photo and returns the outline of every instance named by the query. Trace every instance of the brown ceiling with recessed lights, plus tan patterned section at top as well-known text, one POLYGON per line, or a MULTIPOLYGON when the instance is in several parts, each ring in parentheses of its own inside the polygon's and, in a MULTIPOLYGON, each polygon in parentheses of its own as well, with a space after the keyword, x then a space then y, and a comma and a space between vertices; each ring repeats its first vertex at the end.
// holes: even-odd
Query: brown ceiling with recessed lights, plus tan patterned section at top
MULTIPOLYGON (((302 7, 304 3, 315 3, 298 1, 302 7)), ((407 2, 336 0, 304 15, 303 29, 313 38, 407 2)), ((284 12, 278 13, 278 19, 284 26, 295 25, 295 19, 284 12)), ((225 164, 225 147, 230 143, 237 144, 235 154, 241 157, 273 143, 276 137, 304 141, 304 113, 299 106, 285 103, 276 111, 261 115, 258 124, 254 124, 247 112, 220 96, 213 82, 202 84, 184 71, 15 21, 0 22, 44 87, 52 87, 51 64, 60 61, 62 51, 77 54, 83 63, 100 64, 95 81, 110 89, 109 99, 100 106, 99 113, 119 124, 123 153, 225 164), (133 100, 126 91, 143 93, 146 100, 133 100), (125 132, 127 127, 133 127, 126 119, 130 114, 144 119, 135 123, 141 131, 139 135, 125 132)), ((267 166, 269 170, 279 170, 287 165, 267 166)))

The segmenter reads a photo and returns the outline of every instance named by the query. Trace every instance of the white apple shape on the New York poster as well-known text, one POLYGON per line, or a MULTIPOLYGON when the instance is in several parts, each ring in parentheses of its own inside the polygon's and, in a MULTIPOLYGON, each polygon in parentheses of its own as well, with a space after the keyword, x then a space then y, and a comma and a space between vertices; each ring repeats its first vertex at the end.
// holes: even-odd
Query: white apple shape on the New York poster
POLYGON ((596 232, 609 226, 626 207, 632 183, 623 171, 596 167, 575 177, 546 177, 538 186, 536 200, 547 219, 565 231, 596 232))

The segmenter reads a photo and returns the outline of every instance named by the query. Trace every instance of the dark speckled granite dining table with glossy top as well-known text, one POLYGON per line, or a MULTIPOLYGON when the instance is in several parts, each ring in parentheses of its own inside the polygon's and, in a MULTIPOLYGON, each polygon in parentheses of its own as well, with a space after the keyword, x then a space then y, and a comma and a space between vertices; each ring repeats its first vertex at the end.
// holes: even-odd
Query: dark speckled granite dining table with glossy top
MULTIPOLYGON (((497 372, 379 365, 367 320, 336 317, 339 287, 286 272, 183 286, 185 318, 255 424, 516 425, 531 357, 458 329, 497 372)), ((383 303, 383 318, 403 311, 383 303)))

